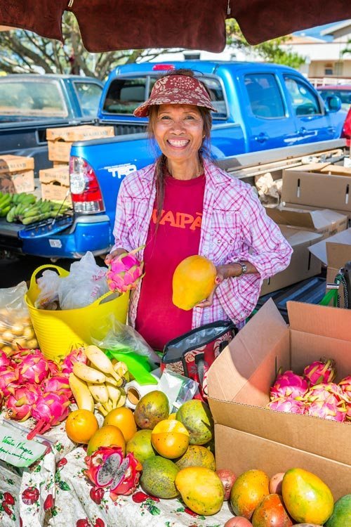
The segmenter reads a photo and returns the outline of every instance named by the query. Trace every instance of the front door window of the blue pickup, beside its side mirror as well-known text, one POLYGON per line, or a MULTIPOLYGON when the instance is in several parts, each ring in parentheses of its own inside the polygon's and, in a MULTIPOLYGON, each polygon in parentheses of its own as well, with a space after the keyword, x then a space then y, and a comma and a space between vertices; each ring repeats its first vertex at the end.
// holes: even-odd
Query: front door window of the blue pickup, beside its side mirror
POLYGON ((284 82, 296 115, 302 117, 304 115, 322 114, 317 96, 305 82, 297 77, 289 77, 288 75, 284 75, 284 82))

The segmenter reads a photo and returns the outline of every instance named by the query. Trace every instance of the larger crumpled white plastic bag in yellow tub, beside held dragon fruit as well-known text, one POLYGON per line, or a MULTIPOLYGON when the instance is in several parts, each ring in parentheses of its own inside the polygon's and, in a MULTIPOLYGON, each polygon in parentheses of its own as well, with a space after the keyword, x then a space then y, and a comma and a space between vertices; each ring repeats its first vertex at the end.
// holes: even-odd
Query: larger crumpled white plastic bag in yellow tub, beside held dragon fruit
POLYGON ((82 308, 102 297, 109 291, 106 273, 107 267, 98 266, 93 253, 86 252, 79 261, 72 263, 69 275, 60 280, 60 308, 82 308))

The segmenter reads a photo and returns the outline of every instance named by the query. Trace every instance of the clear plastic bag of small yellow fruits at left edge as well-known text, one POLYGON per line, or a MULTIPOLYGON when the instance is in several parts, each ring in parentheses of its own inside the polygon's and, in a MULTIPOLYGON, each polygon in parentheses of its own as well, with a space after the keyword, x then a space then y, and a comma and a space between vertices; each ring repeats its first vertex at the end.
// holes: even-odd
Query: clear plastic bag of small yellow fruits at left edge
POLYGON ((18 351, 18 345, 28 349, 38 347, 25 304, 26 293, 25 282, 0 289, 0 349, 6 354, 18 351))

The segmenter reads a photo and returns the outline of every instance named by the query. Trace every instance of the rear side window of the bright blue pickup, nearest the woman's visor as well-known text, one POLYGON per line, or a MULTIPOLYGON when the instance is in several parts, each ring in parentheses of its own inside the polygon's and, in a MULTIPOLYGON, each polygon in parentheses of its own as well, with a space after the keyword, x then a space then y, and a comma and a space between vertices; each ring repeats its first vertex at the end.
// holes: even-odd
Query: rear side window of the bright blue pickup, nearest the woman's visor
POLYGON ((264 119, 285 117, 282 93, 274 74, 247 74, 244 82, 253 115, 264 119))

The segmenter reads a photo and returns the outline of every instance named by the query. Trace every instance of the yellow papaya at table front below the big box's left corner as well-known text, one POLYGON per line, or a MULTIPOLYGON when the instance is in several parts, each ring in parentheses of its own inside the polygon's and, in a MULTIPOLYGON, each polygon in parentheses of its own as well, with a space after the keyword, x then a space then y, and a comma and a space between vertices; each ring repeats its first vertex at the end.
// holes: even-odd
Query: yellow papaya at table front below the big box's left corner
POLYGON ((197 514, 216 514, 224 500, 224 488, 216 472, 205 467, 187 467, 176 475, 176 488, 185 505, 197 514))

